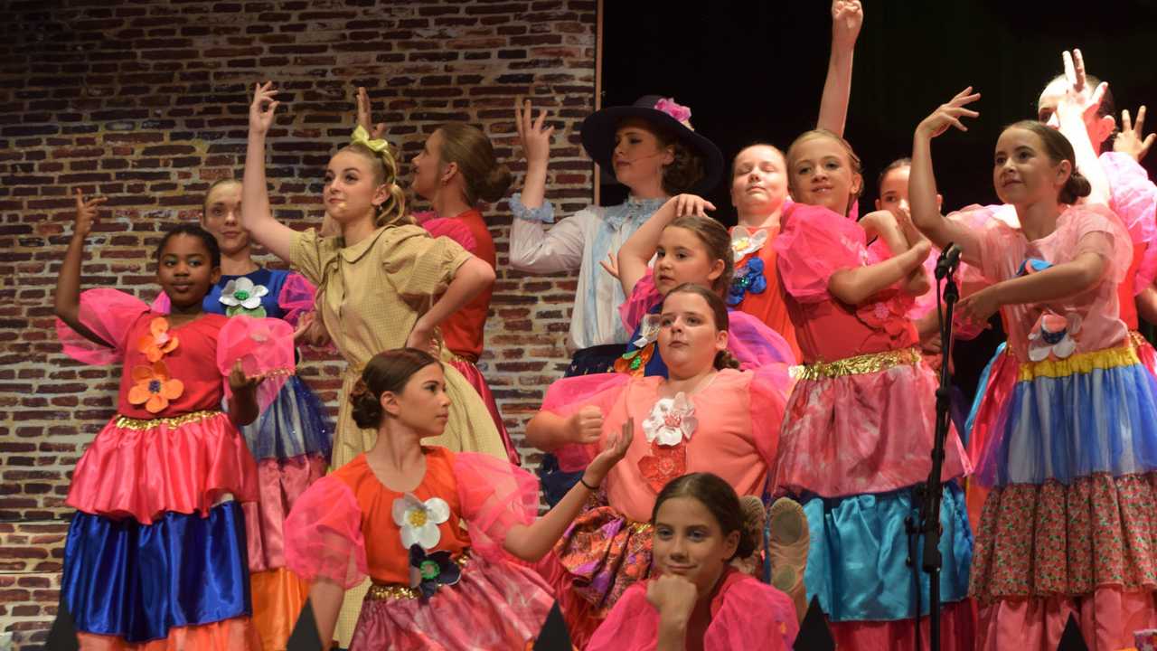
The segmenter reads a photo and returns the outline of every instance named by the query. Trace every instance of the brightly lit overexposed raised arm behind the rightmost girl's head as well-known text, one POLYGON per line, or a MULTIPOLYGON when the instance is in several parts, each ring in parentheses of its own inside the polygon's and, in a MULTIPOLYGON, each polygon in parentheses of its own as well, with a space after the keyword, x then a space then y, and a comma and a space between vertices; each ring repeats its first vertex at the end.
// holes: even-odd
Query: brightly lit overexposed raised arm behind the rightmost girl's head
POLYGON ((1097 151, 1093 149, 1092 142, 1089 140, 1085 116, 1097 115, 1105 92, 1108 90, 1108 83, 1101 82, 1096 88, 1089 88, 1081 50, 1074 50, 1071 54, 1066 51, 1062 58, 1064 59, 1064 78, 1069 83, 1064 96, 1056 104, 1060 131, 1073 145, 1077 169, 1089 180, 1091 192, 1085 197, 1084 203, 1107 206, 1108 176, 1101 169, 1100 161, 1097 160, 1097 151))

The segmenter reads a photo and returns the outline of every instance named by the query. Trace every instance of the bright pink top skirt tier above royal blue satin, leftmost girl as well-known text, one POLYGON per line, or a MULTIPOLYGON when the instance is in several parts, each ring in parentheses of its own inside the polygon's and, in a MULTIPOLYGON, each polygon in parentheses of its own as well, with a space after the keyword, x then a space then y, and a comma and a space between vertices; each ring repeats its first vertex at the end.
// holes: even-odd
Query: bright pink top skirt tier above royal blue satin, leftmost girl
POLYGON ((204 517, 229 495, 257 499, 257 465, 227 415, 143 430, 117 420, 76 463, 67 503, 78 511, 148 525, 167 511, 204 517))

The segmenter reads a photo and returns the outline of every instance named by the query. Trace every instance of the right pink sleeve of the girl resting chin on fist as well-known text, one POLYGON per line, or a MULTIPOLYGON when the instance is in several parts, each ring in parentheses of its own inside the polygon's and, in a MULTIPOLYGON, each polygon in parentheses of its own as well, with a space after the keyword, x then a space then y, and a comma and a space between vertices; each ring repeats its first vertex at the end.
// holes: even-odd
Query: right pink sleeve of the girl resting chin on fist
POLYGON ((799 634, 795 606, 787 594, 753 578, 728 586, 703 635, 705 650, 788 651, 799 634))

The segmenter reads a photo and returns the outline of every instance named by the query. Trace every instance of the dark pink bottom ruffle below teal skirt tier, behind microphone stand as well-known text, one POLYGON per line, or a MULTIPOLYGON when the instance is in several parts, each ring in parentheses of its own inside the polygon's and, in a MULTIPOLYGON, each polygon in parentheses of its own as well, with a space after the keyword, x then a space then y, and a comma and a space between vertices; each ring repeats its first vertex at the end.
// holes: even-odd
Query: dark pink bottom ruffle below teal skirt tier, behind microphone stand
MULTIPOLYGON (((943 651, 972 651, 977 639, 977 615, 970 600, 944 604, 941 609, 941 649, 943 651)), ((837 649, 887 649, 887 651, 924 651, 928 649, 928 617, 920 619, 920 638, 916 646, 912 620, 891 622, 830 622, 837 649)), ((1015 649, 1036 649, 1018 645, 1015 649)), ((1055 646, 1049 646, 1049 651, 1055 646)))

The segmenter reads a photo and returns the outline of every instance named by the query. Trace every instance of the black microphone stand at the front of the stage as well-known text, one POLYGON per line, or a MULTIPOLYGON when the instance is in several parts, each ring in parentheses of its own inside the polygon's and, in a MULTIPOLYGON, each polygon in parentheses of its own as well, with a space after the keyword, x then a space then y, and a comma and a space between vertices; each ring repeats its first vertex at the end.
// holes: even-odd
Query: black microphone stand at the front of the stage
MULTIPOLYGON (((924 485, 923 490, 924 504, 922 520, 920 521, 920 529, 924 536, 922 565, 924 572, 928 573, 928 628, 930 651, 939 651, 941 648, 939 572, 941 566, 943 565, 943 559, 941 558, 939 553, 939 515, 941 498, 943 496, 943 482, 941 477, 944 471, 944 441, 948 439, 948 431, 951 424, 952 374, 949 372, 949 363, 952 354, 952 312, 956 307, 956 301, 960 298, 960 292, 957 288, 956 280, 953 278, 956 268, 959 264, 959 255, 949 255, 949 251, 951 251, 952 248, 952 244, 944 247, 944 250, 939 256, 941 264, 937 264, 936 270, 937 294, 939 294, 942 273, 944 280, 943 312, 941 312, 941 301, 937 300, 936 302, 941 326, 941 378, 939 387, 936 389, 936 436, 933 440, 933 466, 931 470, 928 473, 928 483, 924 485)), ((919 598, 920 591, 918 588, 916 599, 919 598)), ((919 613, 916 614, 916 619, 919 622, 919 613)))

